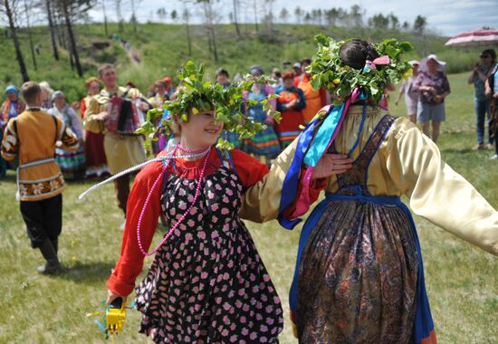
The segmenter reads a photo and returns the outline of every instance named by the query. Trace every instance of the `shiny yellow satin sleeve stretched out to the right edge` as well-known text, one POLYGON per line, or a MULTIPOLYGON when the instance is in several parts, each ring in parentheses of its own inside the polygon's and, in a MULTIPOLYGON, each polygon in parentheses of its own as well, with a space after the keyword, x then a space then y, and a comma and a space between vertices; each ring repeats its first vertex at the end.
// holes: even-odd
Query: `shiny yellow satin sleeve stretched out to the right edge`
POLYGON ((483 250, 498 255, 498 212, 441 159, 436 144, 415 126, 388 137, 388 175, 410 197, 412 211, 483 250))

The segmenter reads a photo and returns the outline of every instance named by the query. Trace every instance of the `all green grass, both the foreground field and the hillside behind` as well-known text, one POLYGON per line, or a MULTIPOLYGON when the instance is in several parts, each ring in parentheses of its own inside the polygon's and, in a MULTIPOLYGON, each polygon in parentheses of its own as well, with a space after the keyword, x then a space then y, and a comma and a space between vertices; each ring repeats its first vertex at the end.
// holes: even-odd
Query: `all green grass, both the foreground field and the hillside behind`
MULTIPOLYGON (((129 28, 120 33, 139 51, 141 64, 132 66, 117 41, 105 37, 99 24, 77 27, 81 62, 85 77, 94 75, 101 62, 114 62, 120 83, 134 81, 143 92, 153 81, 173 76, 180 62, 192 58, 206 63, 206 74, 224 66, 231 74, 247 72, 250 65, 260 63, 265 71, 281 66, 283 61, 295 62, 314 52, 312 36, 323 32, 337 38, 360 36, 378 40, 394 36, 409 40, 416 51, 408 59, 427 53, 438 53, 448 62, 452 88, 446 100, 446 121, 438 146, 442 157, 458 173, 469 180, 489 201, 498 207, 498 160, 489 160, 488 150, 472 151, 475 142, 473 87, 466 84, 467 73, 475 50, 444 49, 442 37, 421 37, 408 33, 380 33, 359 29, 317 28, 311 25, 276 25, 276 41, 267 42, 263 33, 243 26, 244 39, 236 40, 230 25, 218 28, 219 61, 215 62, 206 45, 201 26, 193 26, 192 54, 187 52, 185 30, 179 25, 141 24, 139 32, 129 28), (92 43, 110 42, 103 51, 91 48, 92 43), (236 43, 235 43, 236 42, 236 43)), ((110 24, 110 33, 117 25, 110 24)), ((22 33, 22 35, 25 33, 22 33)), ((62 50, 62 59, 53 62, 46 27, 34 28, 34 43, 42 43, 37 55, 35 72, 28 54, 27 40, 22 40, 24 59, 32 80, 46 80, 53 89, 65 91, 68 99, 83 96, 83 85, 73 72, 62 50)), ((2 85, 21 80, 14 65, 12 43, 0 37, 0 70, 2 85)), ((394 106, 396 93, 391 95, 391 114, 405 115, 403 101, 394 106)), ((106 298, 105 282, 120 254, 120 224, 122 215, 116 205, 112 185, 103 186, 83 201, 77 198, 94 184, 91 180, 68 184, 63 196, 63 229, 60 237, 60 258, 64 271, 47 277, 38 274, 36 266, 43 263, 38 251, 31 249, 24 223, 15 201, 15 176, 9 171, 0 180, 0 343, 100 343, 104 336, 94 324, 102 320, 106 298)), ((466 203, 466 199, 461 202, 466 203)), ((468 206, 473 206, 468 204, 468 206)), ((496 343, 498 342, 498 264, 489 253, 475 248, 446 233, 424 218, 415 216, 422 244, 426 285, 440 343, 496 343)), ((273 221, 264 225, 247 222, 267 269, 273 277, 283 300, 285 327, 281 342, 296 343, 288 311, 288 291, 297 252, 301 226, 287 231, 273 221)), ((164 230, 159 229, 153 244, 157 244, 164 230)), ((146 259, 145 266, 151 263, 146 259)), ((142 272, 142 275, 144 272, 142 272)), ((140 277, 141 278, 141 277, 140 277)), ((112 340, 116 343, 150 342, 138 334, 139 312, 128 311, 125 329, 112 340)))

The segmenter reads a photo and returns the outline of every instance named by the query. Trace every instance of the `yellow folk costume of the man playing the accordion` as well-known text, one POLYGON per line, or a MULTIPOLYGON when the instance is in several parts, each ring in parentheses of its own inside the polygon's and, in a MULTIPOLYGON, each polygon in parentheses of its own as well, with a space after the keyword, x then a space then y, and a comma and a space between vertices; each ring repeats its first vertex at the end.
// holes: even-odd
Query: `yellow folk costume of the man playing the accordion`
MULTIPOLYGON (((116 91, 103 89, 99 94, 91 98, 88 109, 84 115, 84 126, 87 130, 104 135, 104 152, 110 174, 115 175, 120 171, 133 167, 146 160, 145 150, 139 136, 122 134, 116 128, 109 128, 106 122, 97 119, 96 115, 102 111, 114 111, 110 109, 110 101, 117 98, 142 97, 139 90, 118 87, 116 91)), ((143 98, 143 97, 142 97, 143 98)), ((129 175, 125 175, 115 181, 118 206, 126 216, 126 207, 129 196, 129 175)))

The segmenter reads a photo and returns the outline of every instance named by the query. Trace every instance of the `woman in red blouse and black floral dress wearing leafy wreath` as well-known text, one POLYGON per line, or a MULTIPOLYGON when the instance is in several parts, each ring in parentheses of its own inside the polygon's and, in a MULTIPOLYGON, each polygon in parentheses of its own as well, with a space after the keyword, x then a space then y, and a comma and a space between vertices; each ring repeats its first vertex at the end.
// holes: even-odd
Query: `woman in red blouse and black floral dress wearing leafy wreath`
MULTIPOLYGON (((240 110, 240 94, 254 81, 223 88, 203 81, 203 74, 202 66, 187 62, 176 100, 149 111, 139 130, 153 138, 153 119, 168 110, 162 128, 179 132, 179 143, 135 179, 108 302, 133 291, 145 255, 156 253, 136 288, 140 332, 158 343, 276 343, 283 330, 281 301, 238 215, 244 192, 268 168, 240 150, 230 152, 223 139, 214 147, 224 126, 242 138, 263 129, 240 110), (147 253, 159 214, 169 229, 147 253)), ((321 159, 322 170, 330 171, 334 158, 321 159)), ((312 178, 323 176, 318 170, 312 178)))

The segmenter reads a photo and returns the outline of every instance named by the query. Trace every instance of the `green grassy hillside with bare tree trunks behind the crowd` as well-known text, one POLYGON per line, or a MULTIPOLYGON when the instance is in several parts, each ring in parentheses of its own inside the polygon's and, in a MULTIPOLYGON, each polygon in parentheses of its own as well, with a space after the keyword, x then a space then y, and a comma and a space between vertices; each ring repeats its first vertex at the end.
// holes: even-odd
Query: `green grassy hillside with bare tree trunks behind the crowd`
MULTIPOLYGON (((479 51, 445 48, 447 38, 438 36, 420 36, 414 33, 386 33, 366 28, 346 29, 343 27, 319 27, 316 25, 276 24, 273 35, 260 29, 254 32, 253 25, 242 26, 242 38, 237 38, 233 25, 219 25, 216 28, 218 62, 208 50, 205 27, 191 25, 192 54, 188 55, 187 32, 183 25, 173 24, 139 24, 138 32, 132 32, 131 26, 126 26, 123 33, 118 33, 118 25, 110 24, 110 37, 104 33, 103 24, 81 24, 76 26, 81 62, 85 77, 96 73, 97 66, 102 62, 116 63, 120 83, 133 81, 142 91, 153 81, 165 75, 175 76, 178 66, 188 58, 206 64, 207 75, 223 66, 232 75, 236 72, 247 72, 252 64, 261 64, 264 71, 270 72, 273 67, 282 68, 283 61, 296 62, 303 57, 311 57, 315 50, 313 36, 326 33, 338 39, 359 37, 371 41, 384 38, 397 38, 414 44, 416 50, 407 56, 408 59, 420 58, 427 53, 437 53, 448 62, 448 72, 464 72, 470 70, 479 51), (140 63, 131 63, 123 44, 116 39, 131 44, 132 49, 139 54, 140 63), (95 45, 109 43, 109 47, 97 49, 95 45)), ((53 89, 66 92, 69 100, 79 99, 83 95, 82 80, 71 70, 67 51, 60 49, 61 59, 53 60, 52 45, 48 27, 34 28, 34 44, 40 46, 36 55, 38 71, 30 53, 27 33, 21 32, 24 61, 30 78, 35 81, 48 81, 53 89)), ((21 83, 18 64, 14 60, 12 41, 2 34, 0 39, 2 55, 0 70, 3 71, 2 83, 21 83)))

